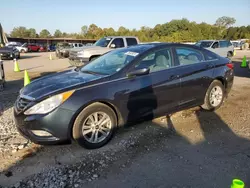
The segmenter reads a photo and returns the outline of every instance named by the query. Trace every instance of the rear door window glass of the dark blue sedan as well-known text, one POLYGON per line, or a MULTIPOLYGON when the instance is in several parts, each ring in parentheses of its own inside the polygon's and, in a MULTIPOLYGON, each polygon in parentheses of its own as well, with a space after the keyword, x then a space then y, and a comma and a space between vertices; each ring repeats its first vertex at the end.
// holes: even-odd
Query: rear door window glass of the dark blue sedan
POLYGON ((176 48, 176 54, 180 65, 199 63, 203 60, 202 54, 199 51, 190 48, 176 48))

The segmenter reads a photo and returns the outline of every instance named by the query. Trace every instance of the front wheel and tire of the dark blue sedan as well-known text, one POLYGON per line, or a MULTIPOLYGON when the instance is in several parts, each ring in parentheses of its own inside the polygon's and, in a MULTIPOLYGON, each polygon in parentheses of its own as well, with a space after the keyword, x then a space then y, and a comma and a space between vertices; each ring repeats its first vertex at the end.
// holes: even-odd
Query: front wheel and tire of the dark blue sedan
POLYGON ((116 126, 115 112, 105 104, 94 103, 83 109, 76 118, 73 138, 84 148, 100 148, 113 137, 116 126))

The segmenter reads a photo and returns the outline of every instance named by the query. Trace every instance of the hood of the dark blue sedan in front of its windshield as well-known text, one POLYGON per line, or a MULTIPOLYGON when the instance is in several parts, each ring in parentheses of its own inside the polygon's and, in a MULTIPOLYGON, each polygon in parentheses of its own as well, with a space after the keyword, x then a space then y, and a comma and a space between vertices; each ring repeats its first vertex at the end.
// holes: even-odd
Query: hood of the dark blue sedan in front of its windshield
POLYGON ((104 76, 82 73, 75 70, 67 70, 34 80, 29 85, 24 87, 20 91, 20 94, 31 97, 34 100, 39 100, 48 95, 72 89, 75 86, 80 86, 102 77, 104 76))

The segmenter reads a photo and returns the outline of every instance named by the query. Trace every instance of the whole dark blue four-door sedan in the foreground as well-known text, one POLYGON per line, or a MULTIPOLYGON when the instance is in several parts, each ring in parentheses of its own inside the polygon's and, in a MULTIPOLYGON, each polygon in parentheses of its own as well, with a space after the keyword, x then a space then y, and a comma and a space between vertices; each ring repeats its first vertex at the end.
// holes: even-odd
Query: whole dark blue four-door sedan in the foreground
POLYGON ((199 105, 218 109, 233 79, 231 60, 204 48, 135 45, 34 80, 20 91, 14 117, 19 132, 35 143, 75 140, 98 148, 128 122, 199 105))

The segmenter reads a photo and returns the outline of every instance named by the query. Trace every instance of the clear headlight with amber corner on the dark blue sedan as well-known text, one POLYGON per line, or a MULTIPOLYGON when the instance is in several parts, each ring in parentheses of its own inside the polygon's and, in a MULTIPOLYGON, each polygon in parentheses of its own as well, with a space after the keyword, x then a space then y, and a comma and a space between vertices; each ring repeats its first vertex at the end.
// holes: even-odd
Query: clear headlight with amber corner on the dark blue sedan
POLYGON ((44 101, 32 106, 28 110, 24 112, 25 115, 32 115, 32 114, 46 114, 57 108, 61 105, 64 101, 66 101, 75 90, 68 91, 65 93, 61 93, 55 96, 52 96, 44 101))

